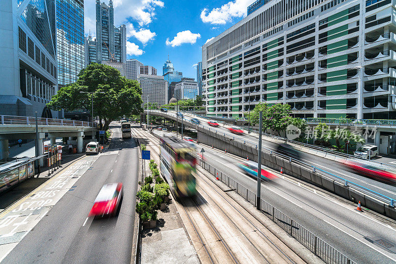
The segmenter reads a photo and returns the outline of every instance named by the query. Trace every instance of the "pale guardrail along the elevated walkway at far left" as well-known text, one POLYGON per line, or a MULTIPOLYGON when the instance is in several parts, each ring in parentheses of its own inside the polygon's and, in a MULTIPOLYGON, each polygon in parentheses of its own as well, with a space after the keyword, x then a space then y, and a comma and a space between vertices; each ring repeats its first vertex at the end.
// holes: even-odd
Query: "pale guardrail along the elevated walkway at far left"
MULTIPOLYGON (((35 117, 25 116, 6 116, 1 115, 1 125, 35 125, 35 117)), ((92 122, 77 121, 67 119, 54 119, 54 118, 37 118, 37 124, 40 126, 81 126, 92 127, 92 122)))

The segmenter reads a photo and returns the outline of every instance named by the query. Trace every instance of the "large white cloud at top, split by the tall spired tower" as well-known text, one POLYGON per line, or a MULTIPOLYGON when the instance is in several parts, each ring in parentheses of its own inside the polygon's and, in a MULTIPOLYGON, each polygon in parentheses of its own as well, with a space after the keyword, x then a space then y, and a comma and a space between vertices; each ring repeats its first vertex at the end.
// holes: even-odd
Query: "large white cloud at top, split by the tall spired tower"
MULTIPOLYGON (((108 5, 108 0, 104 1, 108 5)), ((164 2, 160 0, 113 0, 114 25, 128 23, 128 19, 136 20, 139 25, 147 26, 155 17, 155 9, 164 7, 164 2)), ((95 0, 84 2, 84 24, 85 34, 95 35, 96 31, 96 4, 95 0)))

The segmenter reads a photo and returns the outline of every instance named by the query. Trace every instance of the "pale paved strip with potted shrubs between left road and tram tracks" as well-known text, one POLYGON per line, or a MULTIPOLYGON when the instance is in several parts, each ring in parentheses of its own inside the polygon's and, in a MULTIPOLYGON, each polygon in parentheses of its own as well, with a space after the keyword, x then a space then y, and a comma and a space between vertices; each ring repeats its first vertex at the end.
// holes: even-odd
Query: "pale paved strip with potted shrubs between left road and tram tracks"
MULTIPOLYGON (((155 160, 159 169, 159 147, 148 140, 140 129, 132 129, 133 136, 150 150, 151 159, 155 160)), ((146 176, 150 175, 146 161, 146 176)), ((173 197, 172 197, 173 199, 173 197)), ((197 252, 193 246, 187 229, 170 199, 166 209, 158 210, 157 227, 144 229, 142 232, 142 263, 198 264, 197 252)))

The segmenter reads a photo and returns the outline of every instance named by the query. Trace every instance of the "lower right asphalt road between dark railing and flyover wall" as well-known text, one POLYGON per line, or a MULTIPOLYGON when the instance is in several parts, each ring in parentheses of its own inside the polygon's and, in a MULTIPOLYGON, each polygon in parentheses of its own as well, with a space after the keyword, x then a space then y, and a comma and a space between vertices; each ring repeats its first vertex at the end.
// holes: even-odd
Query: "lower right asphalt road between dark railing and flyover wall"
MULTIPOLYGON (((236 166, 242 159, 203 147, 208 164, 256 191, 256 180, 242 173, 236 166)), ((396 263, 396 254, 367 240, 381 237, 395 244, 394 222, 367 212, 358 213, 354 210, 355 206, 289 178, 262 181, 261 198, 356 263, 396 263)))

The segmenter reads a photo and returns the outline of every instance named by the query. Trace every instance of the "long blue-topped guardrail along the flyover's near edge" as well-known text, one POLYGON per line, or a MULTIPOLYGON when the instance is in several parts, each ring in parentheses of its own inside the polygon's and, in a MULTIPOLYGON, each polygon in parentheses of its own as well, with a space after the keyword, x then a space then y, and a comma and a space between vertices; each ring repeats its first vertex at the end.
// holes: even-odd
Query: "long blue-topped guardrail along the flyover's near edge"
MULTIPOLYGON (((217 133, 217 130, 215 128, 207 127, 205 125, 198 125, 198 124, 192 123, 190 120, 185 119, 185 118, 183 118, 183 121, 190 123, 192 126, 198 126, 198 127, 206 128, 206 129, 208 129, 208 131, 214 131, 214 132, 217 133)), ((245 139, 239 138, 238 136, 236 137, 235 135, 229 135, 228 133, 226 134, 224 132, 218 132, 218 134, 222 135, 225 138, 228 138, 229 140, 233 140, 233 141, 236 141, 236 142, 239 142, 241 144, 245 144, 245 145, 248 145, 248 146, 250 146, 252 148, 256 148, 257 149, 257 144, 253 144, 253 143, 251 143, 249 141, 246 141, 245 139)), ((391 198, 391 197, 388 197, 388 196, 386 196, 384 194, 378 193, 378 192, 376 192, 374 190, 371 190, 369 188, 361 186, 361 185, 359 185, 357 183, 354 183, 352 181, 349 181, 349 180, 347 180, 347 179, 345 179, 343 177, 336 176, 336 175, 334 175, 332 173, 329 173, 329 172, 327 172, 327 171, 325 171, 323 169, 320 169, 320 168, 318 168, 316 166, 313 166, 311 164, 308 164, 308 163, 305 163, 303 161, 297 160, 297 159, 295 159, 295 158, 293 158, 291 156, 288 156, 288 155, 285 155, 285 154, 282 154, 282 153, 278 153, 278 152, 273 151, 272 149, 267 148, 265 146, 263 146, 262 152, 267 153, 269 155, 273 155, 273 156, 277 156, 277 157, 286 159, 286 160, 288 160, 291 163, 293 162, 293 163, 295 163, 295 164, 297 164, 299 166, 302 166, 302 167, 304 167, 306 169, 310 169, 310 170, 312 170, 315 173, 321 174, 323 176, 330 177, 331 179, 336 180, 336 181, 338 181, 339 183, 341 183, 341 184, 343 184, 345 186, 350 186, 350 187, 353 186, 353 187, 357 188, 359 191, 361 191, 363 194, 369 195, 369 196, 374 197, 374 198, 376 198, 376 199, 378 199, 378 200, 380 200, 380 201, 382 201, 384 203, 387 203, 391 207, 395 207, 395 205, 396 205, 395 204, 395 200, 393 198, 391 198)))

